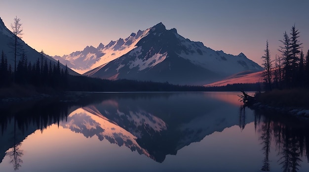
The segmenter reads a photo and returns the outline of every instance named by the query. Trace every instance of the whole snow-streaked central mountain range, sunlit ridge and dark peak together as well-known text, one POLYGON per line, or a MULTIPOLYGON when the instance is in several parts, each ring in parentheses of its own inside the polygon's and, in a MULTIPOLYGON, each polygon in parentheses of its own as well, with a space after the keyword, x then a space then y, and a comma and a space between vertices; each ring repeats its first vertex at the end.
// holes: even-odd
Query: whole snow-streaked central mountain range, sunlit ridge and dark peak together
POLYGON ((87 46, 63 57, 55 56, 83 75, 102 79, 130 79, 205 85, 230 75, 263 70, 243 53, 214 51, 186 39, 162 23, 104 46, 87 46))

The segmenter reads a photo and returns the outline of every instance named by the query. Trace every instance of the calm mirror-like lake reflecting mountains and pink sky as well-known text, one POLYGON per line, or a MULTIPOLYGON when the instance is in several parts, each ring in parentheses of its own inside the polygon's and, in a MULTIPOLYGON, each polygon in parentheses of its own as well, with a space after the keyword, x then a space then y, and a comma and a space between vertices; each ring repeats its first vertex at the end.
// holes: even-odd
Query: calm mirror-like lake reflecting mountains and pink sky
POLYGON ((237 94, 95 93, 4 108, 0 172, 308 172, 308 121, 241 109, 237 94))

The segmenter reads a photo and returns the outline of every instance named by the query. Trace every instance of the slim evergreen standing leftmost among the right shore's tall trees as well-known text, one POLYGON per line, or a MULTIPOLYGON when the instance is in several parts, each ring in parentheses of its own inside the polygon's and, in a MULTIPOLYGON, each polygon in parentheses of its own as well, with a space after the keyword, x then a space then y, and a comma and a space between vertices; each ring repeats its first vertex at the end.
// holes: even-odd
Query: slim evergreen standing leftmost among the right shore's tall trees
POLYGON ((265 71, 263 72, 264 81, 268 86, 268 89, 271 90, 271 60, 270 60, 270 50, 269 50, 269 44, 268 40, 266 41, 266 49, 264 50, 265 55, 262 56, 263 58, 263 67, 265 71))

